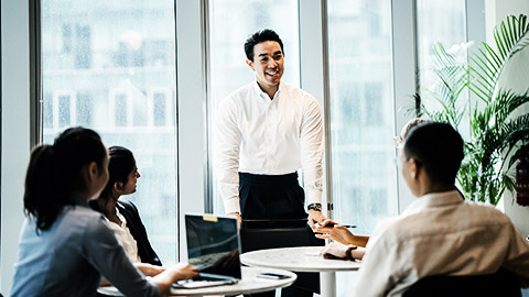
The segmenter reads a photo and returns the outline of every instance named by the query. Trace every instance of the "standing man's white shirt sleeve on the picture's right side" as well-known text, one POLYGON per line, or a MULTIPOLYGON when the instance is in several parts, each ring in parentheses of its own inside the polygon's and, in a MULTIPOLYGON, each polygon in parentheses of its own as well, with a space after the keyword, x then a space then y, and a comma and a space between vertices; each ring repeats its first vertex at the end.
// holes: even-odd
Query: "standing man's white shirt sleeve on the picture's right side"
POLYGON ((323 180, 323 120, 322 111, 316 99, 309 97, 303 122, 301 125, 301 166, 304 175, 304 189, 306 204, 320 204, 322 201, 323 180))

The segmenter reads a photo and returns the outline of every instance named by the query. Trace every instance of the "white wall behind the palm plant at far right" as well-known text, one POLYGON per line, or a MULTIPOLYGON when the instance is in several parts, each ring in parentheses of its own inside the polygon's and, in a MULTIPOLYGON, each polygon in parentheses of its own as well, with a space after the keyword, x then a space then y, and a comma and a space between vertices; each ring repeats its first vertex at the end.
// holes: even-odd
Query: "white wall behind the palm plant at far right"
MULTIPOLYGON (((486 32, 487 32, 487 44, 494 44, 493 30, 494 28, 505 20, 509 14, 519 15, 526 14, 529 15, 529 1, 528 0, 486 0, 486 32)), ((527 67, 527 66, 526 66, 527 67)), ((501 85, 503 88, 509 88, 508 85, 501 85)), ((518 86, 519 88, 519 86, 518 86)), ((527 88, 529 88, 529 81, 527 82, 527 88)), ((527 89, 526 88, 526 89, 527 89)), ((526 107, 525 110, 519 111, 519 113, 529 112, 529 108, 526 107)), ((515 226, 523 234, 529 234, 529 207, 520 207, 512 200, 512 195, 507 193, 504 195, 503 201, 499 208, 503 208, 505 212, 510 217, 515 226)))

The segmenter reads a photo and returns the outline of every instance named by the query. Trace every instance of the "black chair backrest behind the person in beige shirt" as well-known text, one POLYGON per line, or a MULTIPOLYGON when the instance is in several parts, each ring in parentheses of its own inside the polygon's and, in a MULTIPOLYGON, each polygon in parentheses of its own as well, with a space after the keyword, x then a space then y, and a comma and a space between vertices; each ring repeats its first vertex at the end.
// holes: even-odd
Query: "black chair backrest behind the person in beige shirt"
POLYGON ((494 274, 433 275, 421 278, 402 294, 402 297, 418 296, 521 297, 521 288, 512 273, 499 268, 494 274))

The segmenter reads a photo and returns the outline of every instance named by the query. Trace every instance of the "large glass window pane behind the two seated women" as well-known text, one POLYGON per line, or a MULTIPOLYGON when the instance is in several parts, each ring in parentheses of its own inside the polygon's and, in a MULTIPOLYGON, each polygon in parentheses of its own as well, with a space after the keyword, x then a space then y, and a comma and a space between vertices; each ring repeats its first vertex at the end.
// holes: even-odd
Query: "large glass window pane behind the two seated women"
POLYGON ((176 261, 174 1, 42 1, 44 143, 71 125, 130 148, 132 200, 164 264, 176 261))

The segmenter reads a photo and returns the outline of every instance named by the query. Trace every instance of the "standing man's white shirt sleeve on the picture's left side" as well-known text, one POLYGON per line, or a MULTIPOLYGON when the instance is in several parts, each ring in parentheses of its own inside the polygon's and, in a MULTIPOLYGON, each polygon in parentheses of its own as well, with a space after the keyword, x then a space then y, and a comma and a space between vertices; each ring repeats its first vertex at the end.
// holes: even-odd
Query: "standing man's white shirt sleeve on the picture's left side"
POLYGON ((226 213, 240 213, 239 145, 237 109, 233 101, 225 99, 219 105, 215 119, 214 166, 226 213))

